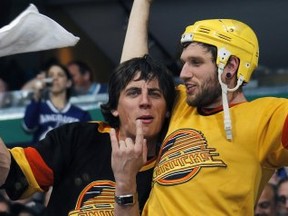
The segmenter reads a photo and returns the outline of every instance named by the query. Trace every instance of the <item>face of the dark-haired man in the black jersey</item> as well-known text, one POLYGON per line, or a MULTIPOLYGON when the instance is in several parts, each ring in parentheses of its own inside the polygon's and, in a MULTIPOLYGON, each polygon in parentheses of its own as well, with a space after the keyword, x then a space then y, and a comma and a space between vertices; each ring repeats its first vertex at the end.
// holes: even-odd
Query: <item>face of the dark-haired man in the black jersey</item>
POLYGON ((119 137, 135 137, 136 120, 140 119, 146 139, 156 139, 165 120, 166 102, 158 81, 138 80, 139 73, 120 92, 117 109, 112 112, 119 117, 119 137))

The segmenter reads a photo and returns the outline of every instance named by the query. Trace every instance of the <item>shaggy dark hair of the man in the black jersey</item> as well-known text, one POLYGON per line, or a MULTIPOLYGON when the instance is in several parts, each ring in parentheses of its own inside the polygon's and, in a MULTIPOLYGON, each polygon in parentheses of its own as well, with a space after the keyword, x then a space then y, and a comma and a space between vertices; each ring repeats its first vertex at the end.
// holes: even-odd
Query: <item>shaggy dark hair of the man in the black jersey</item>
POLYGON ((154 61, 150 56, 133 58, 121 63, 112 73, 109 84, 109 99, 106 104, 100 106, 104 119, 112 126, 119 127, 119 118, 114 117, 111 111, 118 106, 120 92, 140 72, 138 80, 158 80, 159 87, 163 92, 168 111, 172 110, 176 96, 175 84, 170 71, 163 65, 154 61))

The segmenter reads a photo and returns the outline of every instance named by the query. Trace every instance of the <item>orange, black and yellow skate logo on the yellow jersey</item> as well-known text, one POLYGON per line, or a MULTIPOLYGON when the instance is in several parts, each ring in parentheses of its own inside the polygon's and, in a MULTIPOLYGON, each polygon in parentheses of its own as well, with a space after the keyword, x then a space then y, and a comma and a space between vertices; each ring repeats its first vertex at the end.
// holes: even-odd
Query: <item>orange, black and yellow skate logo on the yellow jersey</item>
POLYGON ((162 185, 181 184, 192 179, 203 167, 226 167, 219 154, 208 148, 203 134, 193 129, 180 129, 163 142, 153 182, 162 185))

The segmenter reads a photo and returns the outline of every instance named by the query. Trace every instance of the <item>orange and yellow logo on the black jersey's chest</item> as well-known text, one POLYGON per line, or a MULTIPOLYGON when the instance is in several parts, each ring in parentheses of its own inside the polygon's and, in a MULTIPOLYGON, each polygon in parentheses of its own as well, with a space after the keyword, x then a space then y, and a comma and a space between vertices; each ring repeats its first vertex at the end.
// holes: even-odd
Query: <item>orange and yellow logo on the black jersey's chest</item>
POLYGON ((114 215, 115 183, 94 181, 78 197, 75 210, 69 216, 114 215))

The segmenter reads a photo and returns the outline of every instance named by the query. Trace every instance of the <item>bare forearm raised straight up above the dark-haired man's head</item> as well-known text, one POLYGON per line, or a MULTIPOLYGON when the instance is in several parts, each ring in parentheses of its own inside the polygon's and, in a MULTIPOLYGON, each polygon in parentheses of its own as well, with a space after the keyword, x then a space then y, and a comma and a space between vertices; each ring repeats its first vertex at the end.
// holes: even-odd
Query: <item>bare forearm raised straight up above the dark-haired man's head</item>
POLYGON ((148 22, 152 0, 134 0, 120 62, 148 54, 148 22))

